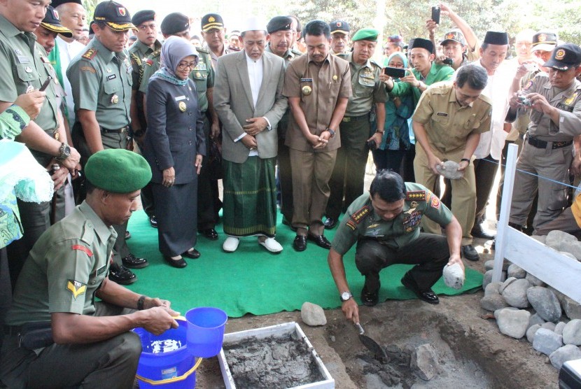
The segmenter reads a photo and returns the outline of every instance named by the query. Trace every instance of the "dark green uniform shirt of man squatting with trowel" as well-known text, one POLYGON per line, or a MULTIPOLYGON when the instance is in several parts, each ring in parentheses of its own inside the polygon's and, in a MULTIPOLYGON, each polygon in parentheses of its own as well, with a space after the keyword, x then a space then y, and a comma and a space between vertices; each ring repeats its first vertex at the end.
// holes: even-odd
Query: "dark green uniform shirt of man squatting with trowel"
POLYGON ((442 226, 452 220, 452 213, 425 186, 405 183, 403 211, 393 220, 382 220, 373 210, 369 192, 363 193, 347 208, 332 241, 332 248, 344 255, 359 239, 376 239, 398 250, 419 236, 421 218, 426 215, 442 226))

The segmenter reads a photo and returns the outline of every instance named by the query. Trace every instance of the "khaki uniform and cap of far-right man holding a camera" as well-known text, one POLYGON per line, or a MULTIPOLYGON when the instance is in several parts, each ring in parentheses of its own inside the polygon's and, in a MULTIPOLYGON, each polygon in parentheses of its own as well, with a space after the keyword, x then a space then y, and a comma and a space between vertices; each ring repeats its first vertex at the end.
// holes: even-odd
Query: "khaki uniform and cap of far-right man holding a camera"
MULTIPOLYGON (((577 64, 581 62, 581 49, 570 43, 557 46, 552 53, 552 60, 568 59, 569 55, 578 57, 577 64), (573 47, 575 53, 569 47, 573 47)), ((554 63, 554 66, 560 65, 559 62, 554 63)), ((549 61, 545 66, 553 65, 549 61)), ((565 185, 569 183, 568 169, 573 159, 573 138, 581 134, 581 82, 574 79, 566 90, 559 90, 552 86, 546 73, 539 73, 523 91, 526 94, 542 95, 551 106, 559 110, 558 125, 552 122, 549 115, 535 109, 518 110, 518 115, 528 113, 531 122, 528 125, 524 148, 517 161, 510 222, 524 226, 533 199, 531 193, 538 190, 538 207, 533 227, 539 229, 567 206, 565 185), (519 170, 534 176, 520 173, 519 170), (543 180, 542 185, 538 185, 537 176, 552 181, 543 180)))

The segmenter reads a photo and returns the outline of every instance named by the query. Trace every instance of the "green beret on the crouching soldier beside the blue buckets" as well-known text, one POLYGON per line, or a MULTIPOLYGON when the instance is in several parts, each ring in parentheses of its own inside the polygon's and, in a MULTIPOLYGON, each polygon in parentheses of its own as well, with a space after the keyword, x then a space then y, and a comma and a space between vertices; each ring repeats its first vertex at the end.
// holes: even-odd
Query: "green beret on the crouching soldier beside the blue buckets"
POLYGON ((130 150, 109 148, 94 153, 85 164, 85 176, 95 187, 115 193, 131 193, 151 180, 144 157, 130 150))

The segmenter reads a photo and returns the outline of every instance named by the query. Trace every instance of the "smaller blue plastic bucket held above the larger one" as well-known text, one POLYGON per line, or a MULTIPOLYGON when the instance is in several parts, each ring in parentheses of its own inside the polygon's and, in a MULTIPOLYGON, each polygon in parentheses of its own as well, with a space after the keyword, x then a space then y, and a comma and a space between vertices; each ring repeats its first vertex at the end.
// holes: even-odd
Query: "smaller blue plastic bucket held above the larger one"
POLYGON ((211 358, 220 353, 228 315, 218 308, 202 306, 186 312, 188 321, 188 353, 211 358))

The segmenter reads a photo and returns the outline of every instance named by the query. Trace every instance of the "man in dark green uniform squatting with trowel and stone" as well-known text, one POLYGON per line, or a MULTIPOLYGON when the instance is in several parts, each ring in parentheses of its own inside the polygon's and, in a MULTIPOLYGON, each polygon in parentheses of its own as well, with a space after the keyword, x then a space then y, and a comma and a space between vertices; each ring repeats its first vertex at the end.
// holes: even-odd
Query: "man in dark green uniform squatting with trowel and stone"
POLYGON ((328 256, 346 318, 359 323, 358 306, 349 291, 343 264, 343 255, 354 243, 357 243, 355 263, 365 276, 361 290, 363 304, 377 304, 379 271, 392 264, 415 264, 401 283, 419 299, 438 304, 440 300, 431 287, 442 276, 444 267, 454 269, 452 266, 457 264, 458 280, 463 283, 461 239, 458 220, 430 190, 416 183, 404 183, 393 171, 379 171, 369 192, 347 209, 328 256), (446 236, 420 232, 424 215, 444 227, 446 236))

